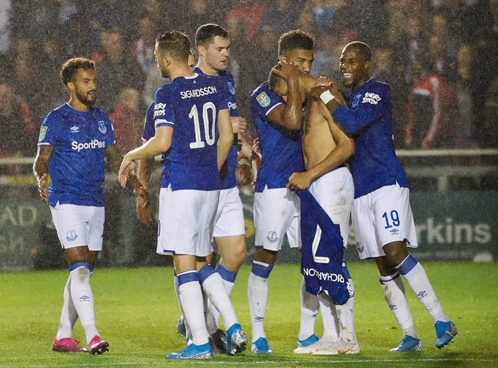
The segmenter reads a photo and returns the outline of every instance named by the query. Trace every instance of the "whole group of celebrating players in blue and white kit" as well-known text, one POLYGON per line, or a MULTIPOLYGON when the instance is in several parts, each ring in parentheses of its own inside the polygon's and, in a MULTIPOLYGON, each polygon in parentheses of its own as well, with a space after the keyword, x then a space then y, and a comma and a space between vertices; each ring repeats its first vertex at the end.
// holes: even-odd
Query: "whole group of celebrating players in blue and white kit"
MULTIPOLYGON (((104 162, 118 171, 121 186, 133 190, 138 217, 149 225, 149 160, 161 154, 157 253, 173 256, 178 330, 186 338, 186 347, 166 358, 209 359, 246 348, 229 296, 247 255, 235 179, 237 142, 247 122, 237 112, 226 30, 201 25, 195 46, 197 65, 183 32, 156 38, 157 66, 171 83, 157 90, 147 109, 143 144, 124 158, 114 148, 107 114, 94 107, 95 65, 85 58, 62 65, 70 99, 44 119, 33 165, 69 264, 54 351, 108 351, 95 327, 89 282, 102 249, 104 162), (213 244, 220 254, 215 268, 213 244), (226 332, 218 327, 220 316, 226 332), (88 350, 72 338, 78 318, 88 350)), ((313 36, 303 30, 282 34, 278 64, 251 95, 261 147, 248 281, 251 350, 273 354, 264 331, 268 278, 287 234, 289 245, 301 250, 304 275, 294 353, 360 352, 354 287, 343 259, 351 213, 360 258, 376 260, 386 301, 403 330, 391 352, 422 349, 400 274, 432 316, 441 348, 457 330, 407 251, 417 240, 406 173, 394 151, 389 86, 369 78, 369 46, 351 42, 340 59, 342 82, 352 90, 346 98, 333 81, 309 75, 313 49, 313 36), (314 331, 319 310, 321 338, 314 331)))

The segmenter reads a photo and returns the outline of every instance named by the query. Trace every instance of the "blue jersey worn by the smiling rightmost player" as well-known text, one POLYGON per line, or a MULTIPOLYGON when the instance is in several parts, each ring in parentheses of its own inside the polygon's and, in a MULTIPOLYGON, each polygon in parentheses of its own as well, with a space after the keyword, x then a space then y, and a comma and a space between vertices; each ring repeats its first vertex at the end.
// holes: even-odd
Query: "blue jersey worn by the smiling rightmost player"
POLYGON ((394 149, 391 89, 386 83, 369 79, 349 95, 348 108, 336 108, 334 119, 355 139, 350 159, 355 198, 396 182, 408 187, 394 149))

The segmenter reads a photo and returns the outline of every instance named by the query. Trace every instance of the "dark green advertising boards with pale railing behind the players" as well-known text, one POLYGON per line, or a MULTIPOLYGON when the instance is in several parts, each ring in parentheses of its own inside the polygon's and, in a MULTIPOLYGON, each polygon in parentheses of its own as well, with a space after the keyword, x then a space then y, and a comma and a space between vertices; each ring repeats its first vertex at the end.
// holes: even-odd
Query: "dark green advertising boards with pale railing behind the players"
MULTIPOLYGON (((410 179, 436 178, 437 190, 412 191, 411 203, 417 228, 419 248, 411 253, 427 260, 495 260, 498 256, 496 189, 490 191, 446 191, 453 178, 468 178, 471 182, 490 176, 496 185, 498 174, 494 165, 498 150, 472 150, 465 152, 402 151, 402 160, 416 159, 407 167, 410 179), (476 153, 476 151, 481 151, 476 153), (484 152, 483 152, 484 151, 484 152), (430 154, 434 155, 430 155, 430 154), (420 156, 419 156, 420 155, 420 156), (441 155, 441 156, 438 156, 441 155), (491 157, 490 164, 482 160, 480 166, 435 163, 437 157, 448 160, 460 157, 491 157), (429 160, 429 164, 423 160, 429 160), (438 167, 441 168, 438 169, 438 167), (429 175, 432 174, 432 175, 429 175), (445 179, 440 179, 445 177, 445 179), (441 184, 439 181, 442 181, 441 184)), ((15 162, 0 159, 0 165, 31 165, 32 158, 19 158, 15 162)), ((29 167, 29 166, 27 166, 29 167)), ((37 195, 31 175, 4 175, 0 177, 0 270, 29 270, 64 267, 60 245, 48 207, 37 195)), ((115 175, 108 175, 105 183, 106 224, 104 250, 99 263, 104 266, 142 266, 170 264, 171 257, 155 254, 156 227, 146 229, 135 216, 135 203, 130 193, 121 190, 115 175)), ((157 194, 153 194, 157 195, 157 194)), ((254 223, 252 220, 253 195, 242 195, 247 230, 248 262, 254 254, 254 223)), ((350 228, 349 247, 345 257, 358 261, 353 229, 350 228)), ((278 262, 299 262, 299 253, 285 243, 278 262)))

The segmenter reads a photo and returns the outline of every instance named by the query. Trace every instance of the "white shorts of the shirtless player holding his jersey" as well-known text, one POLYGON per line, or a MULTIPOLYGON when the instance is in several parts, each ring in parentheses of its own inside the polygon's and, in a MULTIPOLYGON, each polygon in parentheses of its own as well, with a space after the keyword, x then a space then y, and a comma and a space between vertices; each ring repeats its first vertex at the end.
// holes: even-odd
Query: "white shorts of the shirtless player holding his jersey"
POLYGON ((332 222, 339 225, 344 239, 344 248, 348 245, 349 218, 355 197, 353 176, 347 167, 339 167, 313 181, 310 193, 317 200, 332 222))

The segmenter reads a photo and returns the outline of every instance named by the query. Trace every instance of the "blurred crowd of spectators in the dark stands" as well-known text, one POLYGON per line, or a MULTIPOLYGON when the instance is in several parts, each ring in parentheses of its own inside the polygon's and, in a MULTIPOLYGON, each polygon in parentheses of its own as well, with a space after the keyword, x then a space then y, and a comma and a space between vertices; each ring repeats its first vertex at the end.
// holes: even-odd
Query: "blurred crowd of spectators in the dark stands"
POLYGON ((498 0, 1 0, 0 157, 34 156, 44 116, 67 100, 58 71, 74 56, 97 64, 97 105, 119 148, 140 144, 145 108, 167 82, 155 35, 180 29, 193 39, 208 22, 230 33, 248 120, 280 34, 302 28, 316 37, 314 76, 340 79, 347 42, 372 47, 371 75, 392 89, 398 148, 497 147, 498 0))

